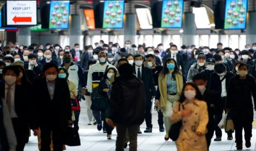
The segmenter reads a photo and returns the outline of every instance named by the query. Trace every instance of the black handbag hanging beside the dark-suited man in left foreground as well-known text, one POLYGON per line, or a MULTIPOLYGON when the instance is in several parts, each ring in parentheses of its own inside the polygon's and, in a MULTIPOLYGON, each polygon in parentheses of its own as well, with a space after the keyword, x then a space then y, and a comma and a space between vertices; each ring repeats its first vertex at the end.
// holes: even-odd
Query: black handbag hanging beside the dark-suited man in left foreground
POLYGON ((79 133, 74 127, 68 126, 65 144, 67 146, 81 145, 79 133))

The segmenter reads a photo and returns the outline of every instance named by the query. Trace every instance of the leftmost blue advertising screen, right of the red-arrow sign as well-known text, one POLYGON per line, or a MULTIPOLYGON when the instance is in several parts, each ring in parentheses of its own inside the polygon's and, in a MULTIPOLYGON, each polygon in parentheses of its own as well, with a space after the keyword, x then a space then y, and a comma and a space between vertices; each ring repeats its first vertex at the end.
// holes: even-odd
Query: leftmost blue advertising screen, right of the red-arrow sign
POLYGON ((50 29, 68 29, 69 1, 51 1, 50 5, 50 29))

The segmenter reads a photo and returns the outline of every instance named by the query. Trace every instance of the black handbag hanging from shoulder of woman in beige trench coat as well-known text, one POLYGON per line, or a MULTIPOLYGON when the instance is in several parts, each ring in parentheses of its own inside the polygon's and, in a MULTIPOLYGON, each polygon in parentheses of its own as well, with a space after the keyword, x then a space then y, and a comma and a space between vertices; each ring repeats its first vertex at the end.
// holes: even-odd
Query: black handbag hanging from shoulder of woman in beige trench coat
MULTIPOLYGON (((184 106, 182 106, 182 108, 184 109, 184 106)), ((181 111, 181 103, 179 103, 179 111, 181 111)), ((171 125, 170 131, 169 131, 169 138, 172 141, 177 141, 179 137, 179 131, 181 130, 181 126, 182 126, 182 120, 178 121, 177 123, 173 123, 171 125)))

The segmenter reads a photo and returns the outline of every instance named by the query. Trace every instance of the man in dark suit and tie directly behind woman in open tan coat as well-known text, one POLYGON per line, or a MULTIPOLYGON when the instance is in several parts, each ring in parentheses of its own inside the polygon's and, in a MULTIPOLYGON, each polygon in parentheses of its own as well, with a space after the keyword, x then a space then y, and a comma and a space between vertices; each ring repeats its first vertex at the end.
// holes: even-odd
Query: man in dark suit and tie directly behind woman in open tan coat
POLYGON ((167 54, 163 59, 162 62, 165 64, 165 61, 167 58, 172 58, 177 62, 177 66, 179 69, 181 69, 182 74, 185 75, 185 67, 183 62, 183 56, 178 54, 178 48, 177 45, 173 44, 171 45, 171 53, 167 54))

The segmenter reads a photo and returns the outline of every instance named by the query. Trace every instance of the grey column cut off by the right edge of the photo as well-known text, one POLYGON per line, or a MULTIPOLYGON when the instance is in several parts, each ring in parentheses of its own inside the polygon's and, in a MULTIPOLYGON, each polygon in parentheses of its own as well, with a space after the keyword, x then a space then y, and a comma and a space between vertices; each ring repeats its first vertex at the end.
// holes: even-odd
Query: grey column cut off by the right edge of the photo
POLYGON ((248 20, 246 25, 246 43, 253 44, 256 42, 256 11, 248 12, 248 20))

